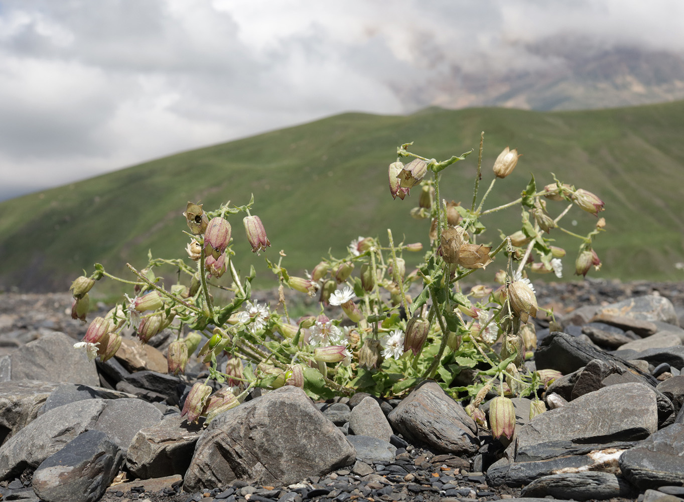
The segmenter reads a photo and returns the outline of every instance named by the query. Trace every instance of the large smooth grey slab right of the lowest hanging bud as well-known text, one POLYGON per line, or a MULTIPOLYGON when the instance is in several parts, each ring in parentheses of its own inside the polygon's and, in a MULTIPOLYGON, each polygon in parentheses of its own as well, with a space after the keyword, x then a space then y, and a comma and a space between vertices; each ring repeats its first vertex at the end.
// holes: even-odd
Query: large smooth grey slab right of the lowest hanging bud
POLYGON ((542 460, 588 453, 607 442, 640 440, 655 432, 657 425, 653 388, 639 383, 618 384, 534 417, 521 427, 511 447, 516 446, 516 461, 542 460))

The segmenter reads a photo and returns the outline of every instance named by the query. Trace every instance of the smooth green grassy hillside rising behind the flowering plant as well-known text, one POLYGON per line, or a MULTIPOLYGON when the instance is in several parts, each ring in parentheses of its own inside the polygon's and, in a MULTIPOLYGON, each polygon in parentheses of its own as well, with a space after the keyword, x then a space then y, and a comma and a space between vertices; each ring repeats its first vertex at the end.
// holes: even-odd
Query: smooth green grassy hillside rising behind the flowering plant
MULTIPOLYGON (((684 261, 683 115, 684 102, 553 113, 432 108, 411 116, 343 114, 173 155, 0 203, 0 289, 63 290, 96 261, 129 277, 124 263, 142 267, 148 249, 160 257, 184 256, 187 200, 218 207, 227 200, 245 204, 251 193, 252 213, 273 244, 267 256, 285 250, 283 264, 291 271, 311 269, 329 249, 341 254, 358 235, 385 239, 387 228, 395 239, 427 243, 425 222, 408 217, 417 197, 402 201, 389 194, 386 168, 395 148, 413 141, 416 153, 444 159, 477 150, 480 131, 484 187, 502 148, 523 154, 486 207, 516 198, 530 172, 538 185, 553 181, 555 172, 605 200, 607 232, 596 241, 604 267, 594 276, 681 280, 674 263, 684 261)), ((476 163, 474 153, 443 171, 444 198, 470 204, 476 163)), ((553 208, 557 214, 562 206, 553 208)), ((578 225, 568 226, 586 233, 594 218, 573 211, 578 225)), ((497 240, 497 228, 511 233, 519 222, 518 211, 492 214, 488 235, 497 240)), ((241 217, 231 223, 238 265, 254 263, 263 271, 263 256, 248 251, 241 217)), ((570 276, 577 245, 556 233, 552 237, 568 246, 570 276)), ((268 274, 258 275, 259 285, 275 284, 268 274)))

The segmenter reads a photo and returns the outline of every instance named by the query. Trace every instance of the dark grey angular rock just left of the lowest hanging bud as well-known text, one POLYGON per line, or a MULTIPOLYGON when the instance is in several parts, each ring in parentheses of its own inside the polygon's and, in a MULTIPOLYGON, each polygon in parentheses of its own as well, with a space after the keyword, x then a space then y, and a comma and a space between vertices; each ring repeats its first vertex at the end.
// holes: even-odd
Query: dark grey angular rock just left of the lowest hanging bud
POLYGON ((479 448, 477 426, 460 404, 434 382, 417 386, 387 416, 397 434, 445 453, 471 454, 479 448))

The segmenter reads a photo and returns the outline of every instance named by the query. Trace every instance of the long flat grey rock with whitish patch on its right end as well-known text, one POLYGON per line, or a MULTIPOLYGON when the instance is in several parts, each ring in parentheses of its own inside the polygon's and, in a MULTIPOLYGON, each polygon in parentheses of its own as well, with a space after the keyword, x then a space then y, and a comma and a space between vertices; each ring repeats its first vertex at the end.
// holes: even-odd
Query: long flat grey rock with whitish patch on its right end
POLYGON ((584 455, 562 455, 528 462, 512 462, 504 457, 488 468, 487 482, 490 486, 524 486, 542 476, 557 473, 615 473, 618 471, 618 459, 624 451, 623 448, 605 448, 584 455))

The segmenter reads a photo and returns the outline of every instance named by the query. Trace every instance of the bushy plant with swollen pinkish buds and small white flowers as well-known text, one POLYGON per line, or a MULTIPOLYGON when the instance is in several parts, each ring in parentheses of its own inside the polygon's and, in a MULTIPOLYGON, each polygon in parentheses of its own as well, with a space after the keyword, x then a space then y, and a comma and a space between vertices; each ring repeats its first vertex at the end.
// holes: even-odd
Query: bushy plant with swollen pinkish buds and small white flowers
MULTIPOLYGON (((478 423, 486 423, 480 409, 483 400, 489 393, 497 395, 490 405, 490 427, 496 437, 510 438, 514 412, 509 396, 534 396, 532 413, 538 414, 544 410, 536 397, 538 388, 558 376, 548 370, 529 372, 523 365, 536 347, 529 317, 543 310, 527 272, 562 275, 566 252, 553 246, 552 231, 579 239, 576 274, 586 275, 592 265, 598 269, 601 261, 592 241, 605 220, 598 218, 603 202, 596 195, 555 176, 553 183, 540 188, 533 176, 519 198, 484 209, 495 183, 514 170, 520 155, 505 148, 481 194, 483 140, 484 133, 469 204, 447 202, 440 194, 440 176, 473 150, 436 161, 412 153, 410 143, 397 148, 397 160, 388 170, 390 194, 404 200, 413 192, 418 205, 410 216, 425 220, 430 246, 397 243, 388 229, 386 240, 359 237, 343 254, 331 254, 305 276, 289 274, 283 265, 286 254, 280 251, 277 260, 265 259, 278 280, 276 305, 252 300, 253 266, 241 275, 233 265, 240 247, 230 222, 235 218, 242 217, 252 252, 271 245, 261 219, 250 212, 254 198, 243 206, 228 202, 214 211, 188 202, 183 215, 189 228, 185 252, 191 263, 149 254, 144 268, 128 265, 133 280, 111 276, 96 264, 93 274, 73 282, 72 315, 83 321, 88 291, 96 280, 106 276, 133 287, 133 298, 127 295, 105 317, 92 320, 76 346, 86 349, 91 359, 105 361, 116 354, 126 327, 133 328, 142 343, 172 330, 169 372, 183 373, 196 353, 209 370, 207 381, 194 384, 185 401, 183 415, 189 421, 200 416, 211 421, 237 406, 254 387, 295 385, 315 398, 356 391, 400 396, 422 380, 433 379, 454 398, 469 399, 466 410, 478 423), (573 207, 597 217, 586 236, 562 226, 573 207), (521 211, 521 228, 495 239, 485 237, 486 218, 504 209, 521 211), (423 252, 424 258, 407 274, 408 252, 423 252), (462 280, 491 266, 497 256, 503 264, 496 274, 500 287, 480 284, 464 291, 462 280), (172 267, 176 283, 167 287, 155 274, 157 267, 172 267), (319 310, 292 319, 286 287, 318 298, 319 310), (226 302, 214 300, 213 293, 219 290, 227 292, 226 302), (340 314, 333 315, 335 311, 340 314), (222 360, 227 360, 225 371, 220 371, 222 360), (212 395, 209 379, 227 385, 212 395)), ((553 319, 552 311, 546 314, 553 319)))

